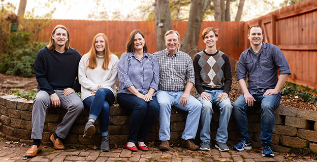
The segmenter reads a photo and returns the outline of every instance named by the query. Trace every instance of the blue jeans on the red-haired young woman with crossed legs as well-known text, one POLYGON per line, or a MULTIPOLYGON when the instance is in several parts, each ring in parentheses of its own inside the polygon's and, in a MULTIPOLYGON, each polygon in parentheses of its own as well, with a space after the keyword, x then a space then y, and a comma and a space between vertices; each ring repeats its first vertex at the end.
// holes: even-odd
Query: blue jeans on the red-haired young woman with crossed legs
POLYGON ((90 108, 88 119, 97 120, 97 117, 99 117, 101 136, 108 136, 109 107, 114 103, 112 91, 101 88, 96 92, 96 95, 84 99, 83 103, 85 107, 90 108))

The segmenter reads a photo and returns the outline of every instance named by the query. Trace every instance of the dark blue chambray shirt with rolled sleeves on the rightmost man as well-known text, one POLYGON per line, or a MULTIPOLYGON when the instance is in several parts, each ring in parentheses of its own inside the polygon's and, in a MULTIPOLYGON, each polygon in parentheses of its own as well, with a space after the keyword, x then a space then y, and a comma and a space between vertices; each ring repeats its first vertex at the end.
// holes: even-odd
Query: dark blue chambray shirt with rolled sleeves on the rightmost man
POLYGON ((245 80, 247 73, 251 95, 274 89, 278 81, 277 70, 279 74, 291 74, 286 58, 275 45, 262 42, 258 54, 256 56, 250 47, 241 53, 238 62, 237 80, 245 80))

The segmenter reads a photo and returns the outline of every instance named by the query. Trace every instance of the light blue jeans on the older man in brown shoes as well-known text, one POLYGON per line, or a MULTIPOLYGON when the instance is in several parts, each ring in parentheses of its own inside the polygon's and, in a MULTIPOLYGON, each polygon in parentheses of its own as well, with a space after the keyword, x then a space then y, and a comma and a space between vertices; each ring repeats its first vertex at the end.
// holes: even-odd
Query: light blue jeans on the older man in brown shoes
POLYGON ((170 122, 171 106, 173 105, 180 110, 188 111, 185 129, 181 138, 188 140, 194 139, 196 136, 202 104, 192 95, 189 95, 188 103, 182 106, 180 104, 180 97, 183 93, 184 91, 158 91, 156 93, 158 104, 160 104, 160 131, 158 131, 158 137, 161 141, 168 141, 171 138, 170 122))

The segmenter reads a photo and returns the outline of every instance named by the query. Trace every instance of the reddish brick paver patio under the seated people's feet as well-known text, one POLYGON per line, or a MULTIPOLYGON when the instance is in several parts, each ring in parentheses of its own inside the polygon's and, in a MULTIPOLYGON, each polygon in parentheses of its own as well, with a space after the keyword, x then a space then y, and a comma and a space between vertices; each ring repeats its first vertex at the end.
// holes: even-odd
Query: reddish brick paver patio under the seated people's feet
POLYGON ((157 147, 150 147, 147 152, 140 150, 131 152, 122 148, 100 152, 99 149, 91 148, 57 151, 51 146, 44 146, 38 156, 26 159, 24 153, 28 147, 29 145, 0 140, 0 161, 295 161, 284 158, 285 155, 278 152, 275 152, 275 157, 262 157, 259 152, 238 152, 232 149, 228 152, 220 152, 215 148, 210 151, 189 151, 180 147, 172 147, 170 151, 160 151, 157 147))

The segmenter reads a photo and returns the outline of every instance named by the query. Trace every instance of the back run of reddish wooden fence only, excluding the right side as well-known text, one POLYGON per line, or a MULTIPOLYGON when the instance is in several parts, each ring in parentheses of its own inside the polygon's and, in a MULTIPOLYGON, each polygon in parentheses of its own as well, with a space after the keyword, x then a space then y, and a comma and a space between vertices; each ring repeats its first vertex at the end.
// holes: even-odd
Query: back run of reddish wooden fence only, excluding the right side
MULTIPOLYGON (((41 31, 39 41, 48 39, 57 24, 65 25, 71 38, 71 47, 77 49, 82 55, 87 53, 91 47, 92 39, 97 33, 105 33, 110 51, 123 53, 128 36, 134 29, 139 29, 145 37, 149 53, 157 51, 156 32, 154 21, 89 21, 89 20, 49 20, 50 25, 41 31)), ((187 21, 174 21, 172 28, 180 33, 181 40, 186 32, 187 21)), ((201 32, 204 28, 213 26, 219 29, 217 47, 230 57, 239 59, 243 51, 243 27, 244 22, 213 22, 204 21, 201 32), (227 37, 230 36, 230 37, 227 37)), ((199 49, 204 49, 203 40, 199 40, 199 49)))

